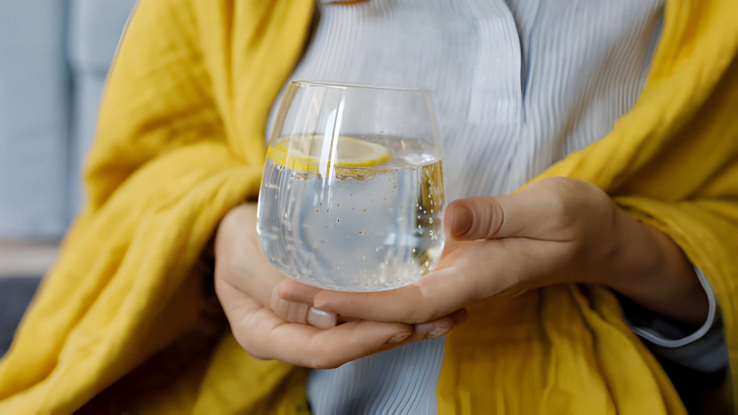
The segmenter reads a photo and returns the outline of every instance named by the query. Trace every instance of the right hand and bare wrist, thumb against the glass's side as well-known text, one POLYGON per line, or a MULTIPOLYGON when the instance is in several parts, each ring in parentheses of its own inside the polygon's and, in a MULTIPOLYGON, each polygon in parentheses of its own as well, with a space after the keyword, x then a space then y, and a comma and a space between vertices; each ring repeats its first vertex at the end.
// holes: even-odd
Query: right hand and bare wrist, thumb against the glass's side
POLYGON ((519 193, 457 200, 444 220, 444 256, 414 284, 353 293, 284 281, 280 298, 356 318, 422 323, 493 295, 589 283, 671 318, 706 318, 706 295, 679 247, 588 182, 551 177, 519 193))

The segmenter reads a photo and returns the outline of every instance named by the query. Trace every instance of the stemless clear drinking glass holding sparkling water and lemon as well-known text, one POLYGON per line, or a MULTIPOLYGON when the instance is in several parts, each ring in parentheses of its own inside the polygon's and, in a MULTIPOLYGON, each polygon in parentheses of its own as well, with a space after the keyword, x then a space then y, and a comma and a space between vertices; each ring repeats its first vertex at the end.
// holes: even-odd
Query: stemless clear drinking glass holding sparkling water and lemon
POLYGON ((304 284, 411 284, 444 247, 444 176, 430 91, 294 81, 269 140, 258 235, 304 284))

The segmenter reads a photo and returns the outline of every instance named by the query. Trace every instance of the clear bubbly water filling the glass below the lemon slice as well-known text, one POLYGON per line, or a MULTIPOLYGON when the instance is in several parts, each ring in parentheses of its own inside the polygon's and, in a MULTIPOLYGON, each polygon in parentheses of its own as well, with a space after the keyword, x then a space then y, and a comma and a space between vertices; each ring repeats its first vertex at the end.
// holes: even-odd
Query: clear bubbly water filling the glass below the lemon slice
POLYGON ((359 138, 386 145, 390 159, 370 167, 337 165, 328 174, 266 160, 261 248, 297 281, 345 291, 392 289, 417 281, 441 256, 438 151, 418 140, 359 138))

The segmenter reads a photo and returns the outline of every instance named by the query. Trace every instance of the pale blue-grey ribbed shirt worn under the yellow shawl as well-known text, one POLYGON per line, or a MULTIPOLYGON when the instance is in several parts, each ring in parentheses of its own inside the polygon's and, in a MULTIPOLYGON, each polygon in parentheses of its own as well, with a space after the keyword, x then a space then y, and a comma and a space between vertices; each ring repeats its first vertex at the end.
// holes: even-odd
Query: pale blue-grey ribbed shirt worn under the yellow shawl
MULTIPOLYGON (((321 3, 291 80, 432 89, 447 200, 514 191, 610 131, 644 86, 663 8, 663 0, 321 3)), ((311 371, 313 414, 435 414, 443 354, 439 337, 311 371)))

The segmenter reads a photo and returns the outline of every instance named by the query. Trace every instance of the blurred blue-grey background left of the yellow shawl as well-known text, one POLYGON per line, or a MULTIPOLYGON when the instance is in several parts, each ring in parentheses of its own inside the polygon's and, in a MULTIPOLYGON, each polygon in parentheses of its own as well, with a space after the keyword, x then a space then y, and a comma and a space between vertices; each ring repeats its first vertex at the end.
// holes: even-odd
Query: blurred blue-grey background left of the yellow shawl
POLYGON ((83 201, 83 160, 134 3, 0 0, 0 356, 83 201))

